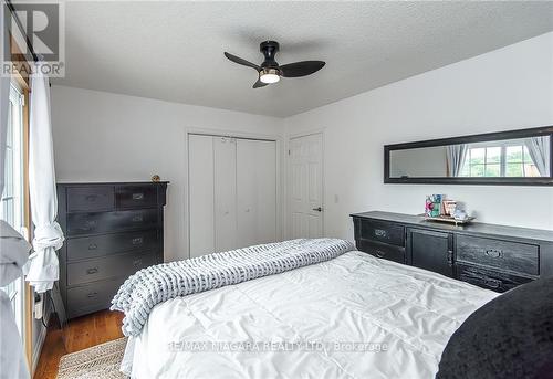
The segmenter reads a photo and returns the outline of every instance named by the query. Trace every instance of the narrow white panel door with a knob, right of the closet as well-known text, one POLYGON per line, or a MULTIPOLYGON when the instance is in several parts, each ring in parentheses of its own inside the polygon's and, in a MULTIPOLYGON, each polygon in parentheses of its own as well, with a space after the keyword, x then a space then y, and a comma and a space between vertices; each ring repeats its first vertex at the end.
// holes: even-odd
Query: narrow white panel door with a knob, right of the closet
POLYGON ((292 138, 289 155, 291 238, 323 235, 323 138, 321 134, 292 138))

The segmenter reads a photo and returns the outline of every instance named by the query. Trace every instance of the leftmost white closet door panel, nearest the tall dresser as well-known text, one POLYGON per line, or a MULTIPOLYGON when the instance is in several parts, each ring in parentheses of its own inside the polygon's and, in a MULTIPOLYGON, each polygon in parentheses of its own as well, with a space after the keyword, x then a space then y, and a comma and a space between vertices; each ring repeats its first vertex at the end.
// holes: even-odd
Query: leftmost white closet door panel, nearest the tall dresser
POLYGON ((213 137, 188 137, 190 257, 215 252, 213 137))

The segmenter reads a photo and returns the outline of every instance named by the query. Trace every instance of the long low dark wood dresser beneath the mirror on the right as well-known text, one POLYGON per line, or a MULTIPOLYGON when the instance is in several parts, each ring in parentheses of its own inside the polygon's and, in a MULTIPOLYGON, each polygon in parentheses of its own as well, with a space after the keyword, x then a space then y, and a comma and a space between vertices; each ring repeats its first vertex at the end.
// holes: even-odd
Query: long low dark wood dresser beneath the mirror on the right
POLYGON ((553 231, 472 223, 466 227, 421 217, 352 214, 357 250, 504 292, 553 276, 553 231))

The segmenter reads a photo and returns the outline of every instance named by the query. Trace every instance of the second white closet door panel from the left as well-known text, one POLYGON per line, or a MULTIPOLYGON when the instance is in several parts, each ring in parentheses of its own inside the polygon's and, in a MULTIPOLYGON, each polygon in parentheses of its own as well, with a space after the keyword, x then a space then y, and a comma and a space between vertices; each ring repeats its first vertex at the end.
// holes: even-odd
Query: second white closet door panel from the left
POLYGON ((215 162, 215 250, 238 246, 237 239, 237 143, 234 138, 213 138, 215 162))

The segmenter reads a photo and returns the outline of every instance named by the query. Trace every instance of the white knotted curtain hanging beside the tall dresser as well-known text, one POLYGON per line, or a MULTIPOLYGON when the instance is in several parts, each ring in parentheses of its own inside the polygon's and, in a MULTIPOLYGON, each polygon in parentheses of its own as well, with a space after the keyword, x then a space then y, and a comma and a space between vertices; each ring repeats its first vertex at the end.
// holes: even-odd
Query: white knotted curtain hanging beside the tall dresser
POLYGON ((29 133, 29 189, 31 215, 34 223, 34 252, 23 267, 25 280, 38 293, 52 289, 60 270, 55 251, 63 245, 63 233, 55 222, 58 198, 55 191, 54 151, 50 114, 48 77, 31 77, 31 115, 29 133))

